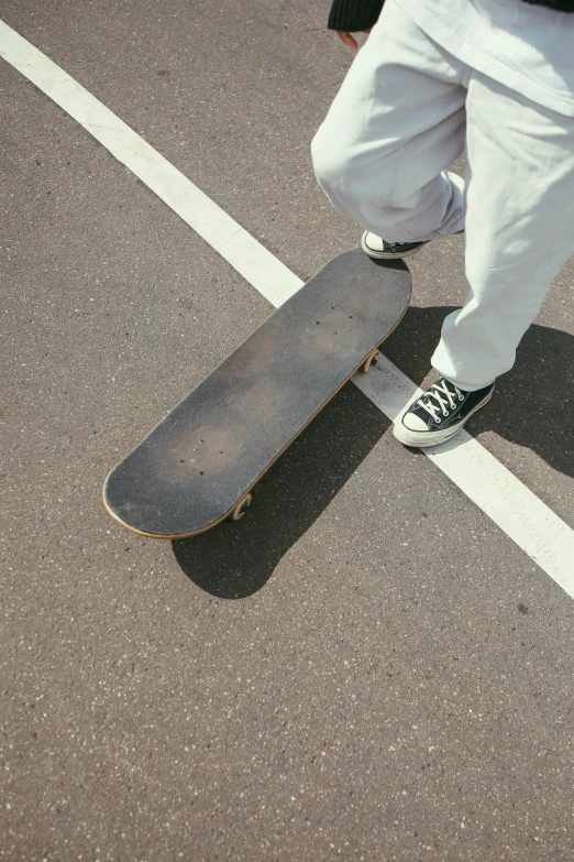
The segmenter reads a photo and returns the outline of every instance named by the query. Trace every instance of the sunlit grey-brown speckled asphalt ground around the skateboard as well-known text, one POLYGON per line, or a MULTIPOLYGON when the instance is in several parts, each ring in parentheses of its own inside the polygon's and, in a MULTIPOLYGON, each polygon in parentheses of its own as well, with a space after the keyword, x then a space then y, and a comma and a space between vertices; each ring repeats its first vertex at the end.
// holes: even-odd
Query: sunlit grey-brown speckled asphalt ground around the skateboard
MULTIPOLYGON (((309 155, 351 61, 328 7, 1 17, 308 279, 360 237, 309 155)), ((572 599, 356 388, 240 524, 166 543, 107 515, 108 471, 272 309, 0 84, 0 859, 572 860, 572 599)), ((420 383, 461 238, 411 271, 385 352, 420 383)), ((468 429, 574 527, 573 285, 571 261, 468 429)))

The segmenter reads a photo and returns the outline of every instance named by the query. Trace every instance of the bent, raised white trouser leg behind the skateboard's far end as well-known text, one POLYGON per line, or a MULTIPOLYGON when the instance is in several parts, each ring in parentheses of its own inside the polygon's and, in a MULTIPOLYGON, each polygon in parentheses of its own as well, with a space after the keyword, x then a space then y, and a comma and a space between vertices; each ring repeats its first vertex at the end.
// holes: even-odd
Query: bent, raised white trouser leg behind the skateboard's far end
POLYGON ((340 212, 389 242, 462 230, 468 74, 387 0, 311 146, 340 212))

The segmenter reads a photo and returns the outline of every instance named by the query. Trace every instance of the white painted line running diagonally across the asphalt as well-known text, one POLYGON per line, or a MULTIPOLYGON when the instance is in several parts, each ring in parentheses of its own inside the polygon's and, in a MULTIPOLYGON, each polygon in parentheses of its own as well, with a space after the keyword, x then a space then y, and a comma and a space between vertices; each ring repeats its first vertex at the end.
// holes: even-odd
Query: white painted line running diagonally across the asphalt
MULTIPOLYGON (((166 159, 3 22, 0 56, 74 117, 273 305, 301 286, 300 279, 166 159)), ((390 419, 420 392, 387 359, 354 382, 390 419)), ((564 521, 466 432, 424 454, 574 598, 574 531, 564 521)))

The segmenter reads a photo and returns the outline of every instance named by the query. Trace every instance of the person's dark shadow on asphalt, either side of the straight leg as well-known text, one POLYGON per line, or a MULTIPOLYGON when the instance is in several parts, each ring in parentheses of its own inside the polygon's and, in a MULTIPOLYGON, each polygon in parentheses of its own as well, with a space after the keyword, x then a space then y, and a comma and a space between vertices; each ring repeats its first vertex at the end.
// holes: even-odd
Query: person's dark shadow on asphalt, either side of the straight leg
MULTIPOLYGON (((453 310, 409 308, 405 325, 385 346, 386 356, 418 384, 429 372, 442 321, 453 310)), ((495 432, 574 477, 573 414, 574 336, 534 324, 520 342, 514 369, 498 379, 493 401, 466 428, 473 436, 495 432)))

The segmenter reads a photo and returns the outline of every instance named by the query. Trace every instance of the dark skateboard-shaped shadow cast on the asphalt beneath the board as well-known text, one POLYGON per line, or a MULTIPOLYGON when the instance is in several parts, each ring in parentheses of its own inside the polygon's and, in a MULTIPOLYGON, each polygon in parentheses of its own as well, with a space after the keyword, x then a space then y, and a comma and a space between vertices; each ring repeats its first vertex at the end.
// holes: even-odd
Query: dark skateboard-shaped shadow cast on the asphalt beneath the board
POLYGON ((389 424, 347 383, 261 479, 244 519, 172 543, 183 571, 224 599, 260 590, 389 424))

